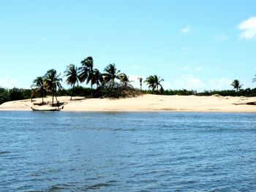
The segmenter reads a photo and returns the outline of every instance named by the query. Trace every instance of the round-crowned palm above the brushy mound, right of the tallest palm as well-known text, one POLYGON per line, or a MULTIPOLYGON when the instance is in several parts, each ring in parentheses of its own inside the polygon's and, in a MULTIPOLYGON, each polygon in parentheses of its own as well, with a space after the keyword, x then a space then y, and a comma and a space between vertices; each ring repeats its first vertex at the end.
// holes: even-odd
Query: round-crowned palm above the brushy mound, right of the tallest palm
POLYGON ((121 76, 123 74, 120 73, 120 70, 116 69, 116 65, 115 64, 109 64, 108 66, 106 66, 106 68, 104 69, 104 80, 105 82, 110 82, 110 87, 113 88, 115 85, 115 79, 120 80, 121 76))

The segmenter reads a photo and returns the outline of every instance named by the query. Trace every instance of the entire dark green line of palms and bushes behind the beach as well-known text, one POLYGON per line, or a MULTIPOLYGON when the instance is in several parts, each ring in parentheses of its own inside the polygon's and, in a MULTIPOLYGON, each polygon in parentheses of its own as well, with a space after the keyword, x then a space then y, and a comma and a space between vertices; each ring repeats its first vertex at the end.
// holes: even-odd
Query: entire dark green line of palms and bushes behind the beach
MULTIPOLYGON (((61 73, 57 73, 55 69, 48 70, 44 75, 36 77, 33 80, 31 89, 12 88, 5 89, 0 88, 0 104, 5 101, 13 101, 20 99, 33 99, 36 97, 42 97, 42 104, 44 104, 45 96, 52 96, 52 104, 54 104, 54 98, 56 104, 58 104, 57 96, 86 96, 86 97, 127 97, 138 96, 142 93, 156 93, 164 95, 197 95, 197 96, 211 96, 219 94, 221 96, 256 96, 256 89, 242 89, 242 84, 239 80, 234 80, 231 83, 233 90, 224 91, 203 91, 197 93, 197 91, 182 90, 164 90, 161 77, 156 74, 143 78, 138 78, 140 82, 140 89, 133 88, 129 76, 125 73, 121 73, 116 68, 115 64, 109 64, 105 67, 103 72, 99 69, 94 69, 94 59, 89 56, 80 62, 81 66, 75 66, 75 64, 69 64, 64 71, 65 82, 70 85, 70 88, 65 89, 62 87, 61 73), (86 82, 90 85, 90 88, 82 87, 81 83, 86 82), (142 90, 143 82, 148 86, 147 91, 142 90), (94 88, 95 85, 95 88, 94 88)), ((255 78, 252 82, 256 82, 255 78)))

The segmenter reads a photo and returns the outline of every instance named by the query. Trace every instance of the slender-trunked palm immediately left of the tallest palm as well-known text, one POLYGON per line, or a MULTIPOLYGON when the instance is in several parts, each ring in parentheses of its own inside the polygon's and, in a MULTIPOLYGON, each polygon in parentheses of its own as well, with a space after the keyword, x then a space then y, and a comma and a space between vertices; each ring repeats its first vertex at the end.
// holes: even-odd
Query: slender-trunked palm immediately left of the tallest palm
MULTIPOLYGON (((79 82, 78 67, 75 66, 74 64, 69 64, 67 66, 66 71, 64 71, 64 73, 65 73, 65 77, 67 77, 67 80, 66 80, 67 85, 72 86, 72 95, 74 95, 75 84, 78 85, 78 82, 79 82)), ((72 100, 72 96, 70 100, 72 100)))

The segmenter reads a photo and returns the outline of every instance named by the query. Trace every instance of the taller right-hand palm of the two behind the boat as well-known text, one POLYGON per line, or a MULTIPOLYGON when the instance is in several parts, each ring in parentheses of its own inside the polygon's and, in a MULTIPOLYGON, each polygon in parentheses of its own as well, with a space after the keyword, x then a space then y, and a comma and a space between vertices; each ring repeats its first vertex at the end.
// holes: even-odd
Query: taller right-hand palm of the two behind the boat
MULTIPOLYGON (((58 88, 62 88, 61 86, 61 81, 62 79, 59 77, 61 74, 57 74, 55 69, 50 69, 48 72, 45 74, 45 88, 47 91, 50 91, 54 96, 56 97, 56 102, 58 104, 58 99, 56 96, 56 92, 58 88)), ((53 104, 53 101, 52 101, 53 104)))

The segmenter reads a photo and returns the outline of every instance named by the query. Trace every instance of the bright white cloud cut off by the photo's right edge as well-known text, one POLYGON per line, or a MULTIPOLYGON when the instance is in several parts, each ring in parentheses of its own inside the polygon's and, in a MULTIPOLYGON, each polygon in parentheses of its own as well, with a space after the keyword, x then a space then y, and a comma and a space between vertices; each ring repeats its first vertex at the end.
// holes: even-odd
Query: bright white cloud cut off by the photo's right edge
POLYGON ((256 17, 242 21, 238 29, 241 30, 241 39, 256 39, 256 17))

